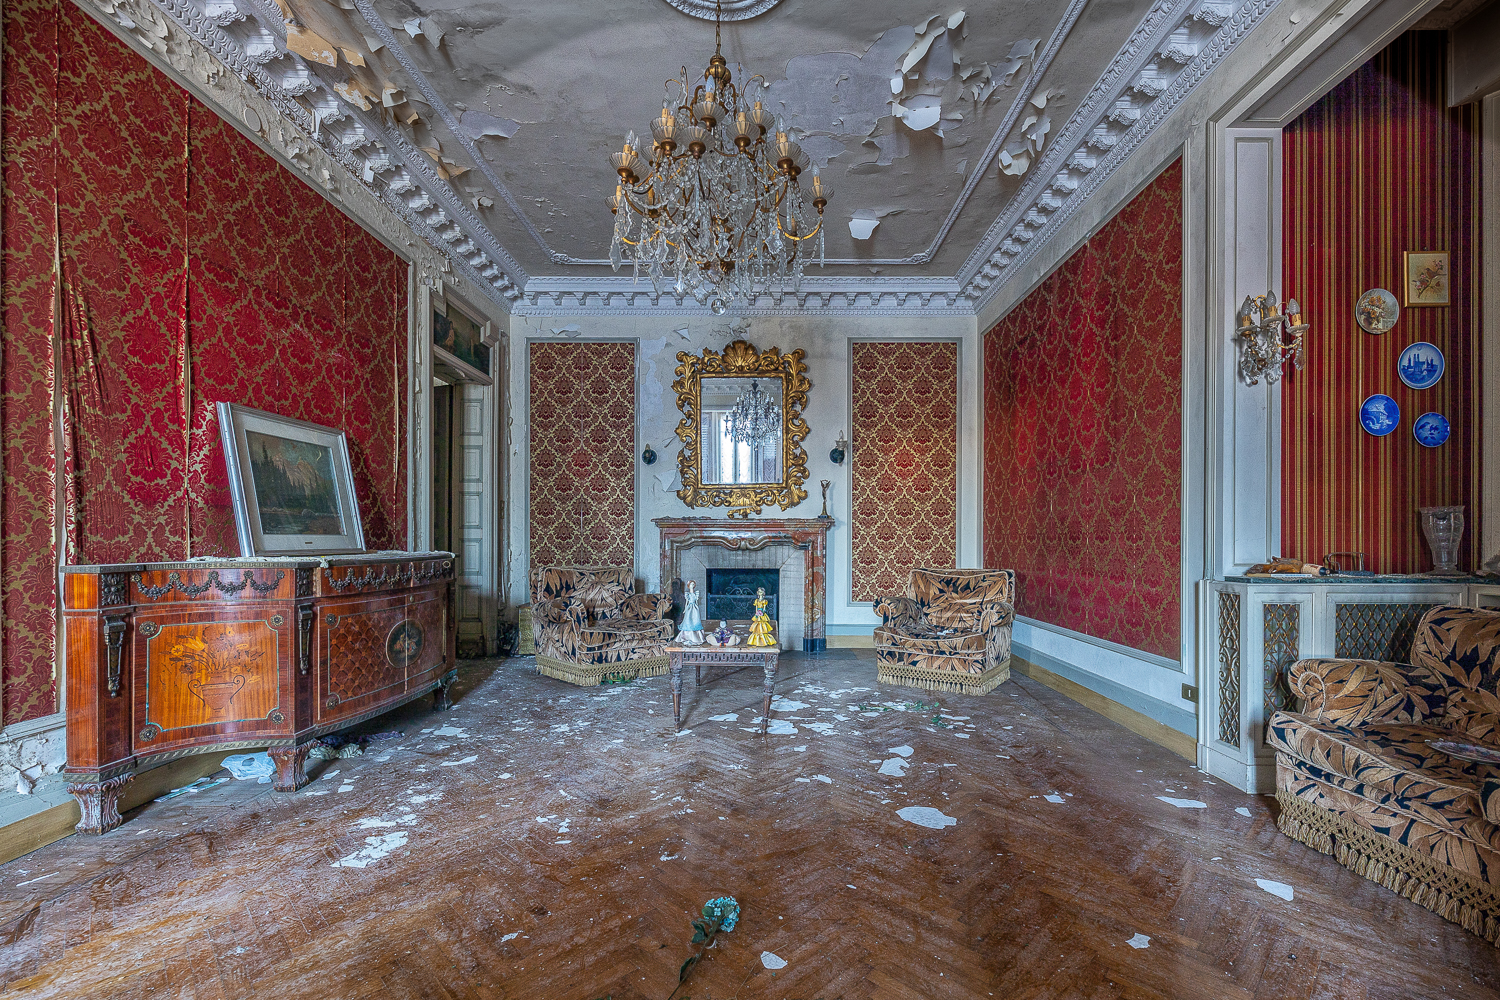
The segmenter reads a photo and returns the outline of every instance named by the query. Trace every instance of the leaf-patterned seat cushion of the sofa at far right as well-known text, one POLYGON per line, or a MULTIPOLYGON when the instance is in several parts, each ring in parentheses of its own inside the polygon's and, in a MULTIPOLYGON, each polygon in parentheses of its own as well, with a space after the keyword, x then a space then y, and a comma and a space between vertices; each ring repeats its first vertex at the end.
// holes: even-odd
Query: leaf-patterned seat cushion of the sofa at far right
POLYGON ((1500 820, 1500 783, 1492 768, 1449 757, 1428 742, 1455 736, 1420 723, 1346 727, 1276 712, 1266 742, 1318 771, 1359 783, 1371 790, 1366 795, 1390 796, 1396 808, 1434 826, 1464 834, 1473 820, 1490 826, 1500 820))

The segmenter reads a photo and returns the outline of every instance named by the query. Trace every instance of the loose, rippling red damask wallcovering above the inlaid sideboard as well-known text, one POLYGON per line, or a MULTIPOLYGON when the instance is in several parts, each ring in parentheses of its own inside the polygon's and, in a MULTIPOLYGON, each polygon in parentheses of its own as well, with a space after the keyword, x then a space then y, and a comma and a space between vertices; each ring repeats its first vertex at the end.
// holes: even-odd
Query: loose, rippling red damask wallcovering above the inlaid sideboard
POLYGON ((4 40, 10 724, 56 711, 54 496, 70 562, 238 555, 219 400, 345 429, 366 543, 405 544, 406 265, 74 4, 4 40))

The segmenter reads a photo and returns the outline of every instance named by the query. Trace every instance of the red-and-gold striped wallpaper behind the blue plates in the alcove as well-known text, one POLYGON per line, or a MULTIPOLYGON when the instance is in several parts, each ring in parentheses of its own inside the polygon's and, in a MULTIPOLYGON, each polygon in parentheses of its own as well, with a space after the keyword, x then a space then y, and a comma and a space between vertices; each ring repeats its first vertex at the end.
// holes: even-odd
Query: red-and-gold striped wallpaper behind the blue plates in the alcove
POLYGON ((1281 555, 1365 552, 1377 573, 1424 573, 1418 507, 1466 504, 1460 564, 1478 561, 1479 105, 1448 106, 1446 46, 1444 31, 1402 34, 1284 133, 1282 283, 1311 330, 1306 367, 1282 379, 1281 555), (1449 252, 1452 304, 1402 309, 1394 330, 1368 334, 1354 303, 1366 288, 1404 301, 1406 250, 1449 252), (1425 390, 1396 375, 1418 340, 1448 361, 1425 390), (1359 426, 1372 393, 1401 406, 1383 438, 1359 426), (1412 435, 1430 411, 1452 427, 1437 448, 1412 435))

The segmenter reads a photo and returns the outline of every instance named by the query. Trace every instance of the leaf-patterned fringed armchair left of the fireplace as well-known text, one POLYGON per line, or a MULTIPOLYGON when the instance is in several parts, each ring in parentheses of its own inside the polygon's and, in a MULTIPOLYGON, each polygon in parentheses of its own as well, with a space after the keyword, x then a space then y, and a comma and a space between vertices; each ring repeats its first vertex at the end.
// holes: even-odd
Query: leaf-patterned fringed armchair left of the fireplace
POLYGON ((591 687, 666 673, 672 598, 636 594, 628 567, 537 567, 531 630, 537 673, 591 687))

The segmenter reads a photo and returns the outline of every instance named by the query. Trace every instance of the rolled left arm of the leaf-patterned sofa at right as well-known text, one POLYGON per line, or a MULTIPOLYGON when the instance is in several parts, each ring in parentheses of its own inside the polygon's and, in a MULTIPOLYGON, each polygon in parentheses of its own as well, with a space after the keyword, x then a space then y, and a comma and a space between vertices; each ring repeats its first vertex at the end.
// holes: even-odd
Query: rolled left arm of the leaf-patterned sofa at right
POLYGON ((1420 723, 1448 700, 1443 681, 1410 663, 1298 660, 1288 673, 1302 714, 1335 726, 1420 723))

